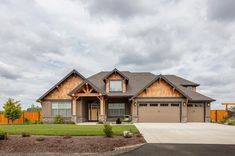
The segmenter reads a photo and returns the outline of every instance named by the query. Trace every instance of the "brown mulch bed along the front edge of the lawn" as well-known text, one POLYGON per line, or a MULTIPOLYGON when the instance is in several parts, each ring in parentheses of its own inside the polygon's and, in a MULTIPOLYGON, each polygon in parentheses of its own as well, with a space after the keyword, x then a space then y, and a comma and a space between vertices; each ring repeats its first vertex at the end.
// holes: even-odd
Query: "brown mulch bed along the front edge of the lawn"
POLYGON ((145 143, 143 137, 63 137, 63 136, 8 136, 0 140, 0 153, 95 153, 111 151, 115 147, 145 143), (37 138, 44 138, 37 141, 37 138))

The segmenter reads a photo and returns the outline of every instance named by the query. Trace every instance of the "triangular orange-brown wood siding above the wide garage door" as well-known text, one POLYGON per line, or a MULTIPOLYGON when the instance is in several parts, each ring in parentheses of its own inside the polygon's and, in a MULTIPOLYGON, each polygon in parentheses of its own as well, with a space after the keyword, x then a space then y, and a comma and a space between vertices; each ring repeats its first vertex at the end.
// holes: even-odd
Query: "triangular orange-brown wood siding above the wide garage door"
POLYGON ((138 97, 183 97, 176 89, 164 80, 157 80, 146 88, 138 97))

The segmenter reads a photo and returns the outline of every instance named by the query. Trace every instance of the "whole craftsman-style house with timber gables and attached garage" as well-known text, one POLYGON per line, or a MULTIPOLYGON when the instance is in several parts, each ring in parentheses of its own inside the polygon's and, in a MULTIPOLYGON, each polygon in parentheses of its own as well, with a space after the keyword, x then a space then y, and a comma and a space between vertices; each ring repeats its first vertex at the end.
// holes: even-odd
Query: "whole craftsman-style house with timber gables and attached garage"
POLYGON ((176 75, 101 71, 85 78, 73 70, 37 101, 44 122, 65 121, 210 122, 210 103, 199 84, 176 75))

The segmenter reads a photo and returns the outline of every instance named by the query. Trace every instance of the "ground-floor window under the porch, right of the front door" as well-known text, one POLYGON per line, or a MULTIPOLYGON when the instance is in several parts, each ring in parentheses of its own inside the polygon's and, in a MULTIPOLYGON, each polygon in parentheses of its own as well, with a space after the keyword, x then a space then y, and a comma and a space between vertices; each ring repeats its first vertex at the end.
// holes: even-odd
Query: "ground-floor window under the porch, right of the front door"
POLYGON ((125 103, 109 103, 108 115, 109 116, 124 116, 125 115, 125 103))

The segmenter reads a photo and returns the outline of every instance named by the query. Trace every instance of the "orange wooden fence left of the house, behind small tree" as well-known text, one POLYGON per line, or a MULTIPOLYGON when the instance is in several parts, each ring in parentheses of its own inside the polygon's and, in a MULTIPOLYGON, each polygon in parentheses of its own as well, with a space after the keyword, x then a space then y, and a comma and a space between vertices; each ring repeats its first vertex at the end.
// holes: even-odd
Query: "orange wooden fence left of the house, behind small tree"
MULTIPOLYGON (((23 124, 25 119, 29 119, 31 123, 39 122, 42 119, 41 112, 23 112, 21 117, 13 122, 13 124, 23 124)), ((8 122, 8 119, 0 113, 0 124, 12 124, 11 121, 8 122)))

